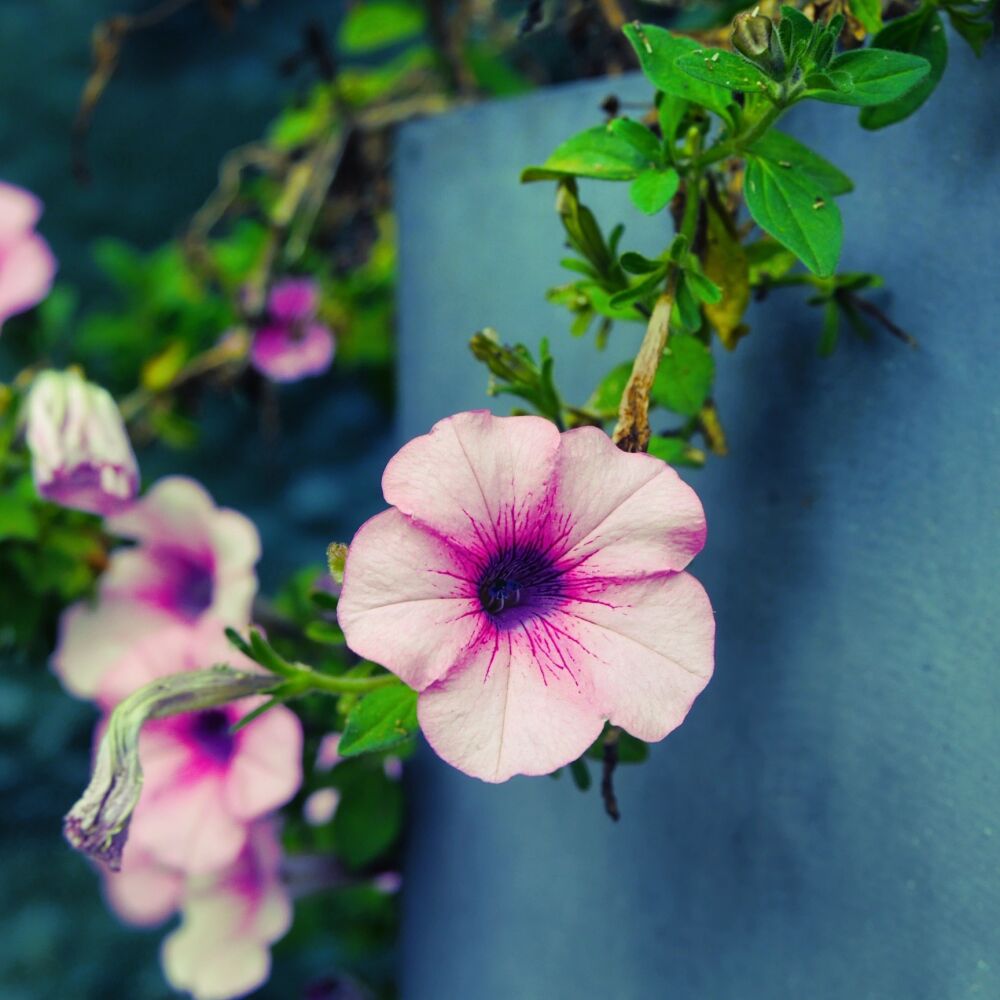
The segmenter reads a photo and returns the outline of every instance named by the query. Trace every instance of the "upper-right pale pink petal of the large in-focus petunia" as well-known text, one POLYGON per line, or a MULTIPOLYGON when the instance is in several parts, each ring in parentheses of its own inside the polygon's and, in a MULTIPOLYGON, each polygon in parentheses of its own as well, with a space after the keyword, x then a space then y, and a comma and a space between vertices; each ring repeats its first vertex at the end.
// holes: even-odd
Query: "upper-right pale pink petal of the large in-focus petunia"
POLYGON ((591 575, 634 577, 680 570, 705 545, 705 514, 665 462, 627 454, 596 427, 562 436, 554 510, 570 522, 561 563, 591 575))

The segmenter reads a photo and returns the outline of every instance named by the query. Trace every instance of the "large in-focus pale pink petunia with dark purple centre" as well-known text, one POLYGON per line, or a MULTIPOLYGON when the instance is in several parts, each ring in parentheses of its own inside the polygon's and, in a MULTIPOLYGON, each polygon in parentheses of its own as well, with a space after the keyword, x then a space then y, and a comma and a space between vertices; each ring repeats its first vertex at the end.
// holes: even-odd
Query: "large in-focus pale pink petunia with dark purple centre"
POLYGON ((705 543, 694 491, 593 427, 460 413, 404 446, 394 509, 347 557, 347 643, 420 692, 434 750, 486 781, 574 760, 605 720, 640 739, 683 721, 715 622, 683 572, 705 543))

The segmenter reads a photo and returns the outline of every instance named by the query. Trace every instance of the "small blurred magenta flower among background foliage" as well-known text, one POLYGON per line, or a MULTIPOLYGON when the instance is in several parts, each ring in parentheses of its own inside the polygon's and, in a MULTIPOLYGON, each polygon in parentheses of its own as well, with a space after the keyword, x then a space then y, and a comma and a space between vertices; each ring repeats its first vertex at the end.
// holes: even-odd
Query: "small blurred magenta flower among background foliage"
POLYGON ((278 282, 267 302, 267 318, 254 333, 250 361, 275 382, 320 375, 333 361, 334 338, 316 320, 319 289, 310 278, 278 282))

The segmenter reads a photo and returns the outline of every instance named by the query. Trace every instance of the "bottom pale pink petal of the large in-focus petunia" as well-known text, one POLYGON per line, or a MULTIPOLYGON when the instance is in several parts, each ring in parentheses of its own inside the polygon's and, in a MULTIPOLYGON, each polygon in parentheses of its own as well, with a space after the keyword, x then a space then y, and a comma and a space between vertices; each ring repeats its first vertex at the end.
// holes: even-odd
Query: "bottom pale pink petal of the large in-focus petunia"
POLYGON ((604 728, 591 678, 538 624, 497 633, 420 695, 427 742, 466 774, 484 781, 547 774, 579 757, 604 728))

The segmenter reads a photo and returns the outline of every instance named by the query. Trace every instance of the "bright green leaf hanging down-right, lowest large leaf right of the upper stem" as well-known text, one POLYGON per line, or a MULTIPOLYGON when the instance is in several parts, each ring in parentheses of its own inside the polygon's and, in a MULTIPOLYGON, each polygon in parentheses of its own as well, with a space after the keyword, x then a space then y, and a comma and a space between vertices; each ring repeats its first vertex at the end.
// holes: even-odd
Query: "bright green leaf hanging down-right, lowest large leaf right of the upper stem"
POLYGON ((840 209, 812 178, 753 157, 747 165, 747 208, 766 233, 821 278, 837 269, 843 223, 840 209))

